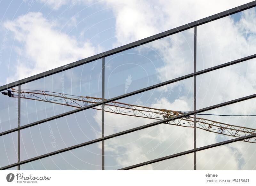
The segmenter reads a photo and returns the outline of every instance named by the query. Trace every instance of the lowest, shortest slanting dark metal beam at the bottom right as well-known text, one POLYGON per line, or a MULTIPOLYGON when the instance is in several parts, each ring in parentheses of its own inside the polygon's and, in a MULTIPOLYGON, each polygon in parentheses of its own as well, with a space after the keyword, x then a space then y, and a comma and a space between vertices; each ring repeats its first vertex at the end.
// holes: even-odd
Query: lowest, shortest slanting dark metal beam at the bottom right
POLYGON ((156 163, 156 162, 159 162, 159 161, 164 161, 166 159, 171 159, 171 158, 179 157, 179 156, 182 156, 182 155, 190 154, 190 153, 193 153, 193 152, 203 151, 203 150, 210 149, 210 148, 213 148, 213 147, 218 147, 220 145, 226 145, 226 144, 229 144, 229 143, 242 141, 242 140, 249 139, 249 138, 252 138, 252 137, 256 137, 256 134, 251 134, 251 135, 248 135, 248 136, 238 137, 238 138, 227 140, 227 141, 224 141, 224 142, 214 143, 214 144, 199 147, 199 148, 196 148, 196 149, 191 149, 189 151, 184 151, 184 152, 180 152, 180 153, 177 153, 177 154, 172 154, 170 156, 165 156, 165 157, 162 157, 162 158, 158 158, 158 159, 146 161, 146 162, 143 162, 143 163, 139 163, 139 164, 136 164, 136 165, 132 165, 132 166, 129 166, 129 167, 124 167, 124 168, 121 168, 121 169, 118 169, 118 170, 130 170, 130 169, 133 169, 133 168, 149 165, 149 164, 156 163))

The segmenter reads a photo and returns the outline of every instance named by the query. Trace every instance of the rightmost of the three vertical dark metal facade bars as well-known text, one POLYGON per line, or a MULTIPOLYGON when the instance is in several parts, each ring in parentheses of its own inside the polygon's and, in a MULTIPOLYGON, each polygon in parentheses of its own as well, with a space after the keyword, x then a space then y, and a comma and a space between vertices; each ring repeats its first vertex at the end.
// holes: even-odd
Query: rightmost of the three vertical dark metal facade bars
MULTIPOLYGON (((196 73, 196 27, 194 34, 194 73, 196 73)), ((194 111, 196 111, 196 75, 194 76, 194 111)), ((194 114, 194 149, 196 149, 196 113, 194 114)), ((196 151, 194 152, 194 170, 196 170, 196 151)))

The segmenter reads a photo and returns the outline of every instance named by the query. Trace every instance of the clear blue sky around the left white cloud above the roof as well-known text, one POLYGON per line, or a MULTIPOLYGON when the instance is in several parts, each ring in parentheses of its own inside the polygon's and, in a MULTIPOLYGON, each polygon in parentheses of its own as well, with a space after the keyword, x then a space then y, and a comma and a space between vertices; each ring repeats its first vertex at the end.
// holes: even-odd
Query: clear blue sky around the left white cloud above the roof
MULTIPOLYGON (((31 6, 28 3, 29 2, 20 2, 20 4, 18 4, 17 2, 11 2, 9 4, 7 1, 2 1, 2 25, 6 20, 16 19, 19 16, 26 15, 29 12, 42 12, 42 16, 47 20, 56 22, 60 25, 60 28, 57 28, 58 32, 60 33, 66 33, 71 37, 78 38, 78 40, 90 40, 90 43, 92 43, 94 47, 97 47, 97 45, 100 44, 101 47, 107 49, 109 45, 113 43, 113 41, 111 41, 113 40, 111 37, 115 36, 115 19, 113 18, 113 14, 111 13, 110 9, 102 10, 97 5, 79 6, 74 4, 72 7, 66 5, 61 6, 58 10, 52 10, 52 7, 44 5, 43 3, 35 3, 31 6), (76 19, 77 24, 72 22, 72 18, 76 19), (100 33, 103 29, 105 30, 104 33, 100 33), (106 41, 109 38, 109 41, 102 43, 102 41, 106 41)), ((6 29, 1 29, 0 37, 4 42, 4 51, 1 60, 2 79, 0 81, 0 84, 3 85, 6 83, 5 81, 7 76, 12 76, 17 72, 17 69, 15 69, 14 66, 17 65, 17 58, 19 58, 19 53, 13 48, 22 47, 22 43, 16 42, 13 38, 15 35, 6 31, 6 29), (5 39, 5 37, 7 39, 5 39), (6 71, 7 69, 9 70, 6 71)), ((86 52, 84 57, 88 57, 86 52)))

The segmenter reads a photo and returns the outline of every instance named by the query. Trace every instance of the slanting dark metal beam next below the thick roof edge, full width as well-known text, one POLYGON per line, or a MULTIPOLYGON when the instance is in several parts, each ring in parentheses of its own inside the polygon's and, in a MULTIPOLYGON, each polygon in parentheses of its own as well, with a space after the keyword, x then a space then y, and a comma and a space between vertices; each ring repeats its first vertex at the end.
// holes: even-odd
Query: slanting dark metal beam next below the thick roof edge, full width
POLYGON ((253 58, 256 58, 256 54, 251 55, 251 56, 247 56, 245 58, 240 58, 240 59, 237 59, 237 60, 234 60, 234 61, 230 61, 230 62, 221 64, 221 65, 217 65, 217 66, 214 66, 214 67, 211 67, 211 68, 207 68, 207 69, 198 71, 196 73, 191 73, 191 74, 188 74, 188 75, 185 75, 185 76, 181 76, 179 78, 175 78, 175 79, 172 79, 172 80, 169 80, 169 81, 158 83, 156 85, 152 85, 152 86, 140 89, 140 90, 136 90, 136 91, 133 91, 133 92, 121 95, 121 96, 117 96, 117 97, 114 97, 114 98, 111 98, 111 99, 106 99, 104 101, 101 101, 101 102, 98 102, 98 103, 95 103, 95 104, 92 104, 92 105, 88 105, 88 106, 85 106, 85 107, 82 107, 82 108, 79 108, 79 109, 76 109, 76 110, 72 110, 72 111, 65 112, 65 113, 62 113, 62 114, 59 114, 59 115, 56 115, 56 116, 52 116, 50 118, 39 120, 39 121, 30 123, 30 124, 27 124, 27 125, 23 125, 21 127, 13 128, 13 129, 1 132, 0 136, 3 136, 3 135, 6 135, 6 134, 9 134, 9 133, 18 131, 19 129, 24 129, 24 128, 32 127, 32 126, 35 126, 35 125, 38 125, 38 124, 41 124, 41 123, 44 123, 44 122, 47 122, 47 121, 51 121, 51 120, 55 120, 55 119, 61 118, 63 116, 67 116, 69 114, 73 114, 73 113, 80 112, 80 111, 83 111, 83 110, 86 110, 86 109, 89 109, 89 108, 93 108, 93 107, 99 106, 101 104, 106 104, 106 103, 109 103, 111 101, 116 101, 118 99, 129 97, 129 96, 132 96, 132 95, 135 95, 135 94, 139 94, 139 93, 151 90, 151 89, 159 88, 161 86, 168 85, 168 84, 171 84, 171 83, 174 83, 174 82, 177 82, 177 81, 185 80, 185 79, 191 78, 191 77, 196 76, 196 75, 201 75, 201 74, 204 74, 204 73, 207 73, 207 72, 211 72, 211 71, 223 68, 223 67, 227 67, 227 66, 230 66, 230 65, 235 65, 237 63, 241 63, 241 62, 247 61, 249 59, 253 59, 253 58))

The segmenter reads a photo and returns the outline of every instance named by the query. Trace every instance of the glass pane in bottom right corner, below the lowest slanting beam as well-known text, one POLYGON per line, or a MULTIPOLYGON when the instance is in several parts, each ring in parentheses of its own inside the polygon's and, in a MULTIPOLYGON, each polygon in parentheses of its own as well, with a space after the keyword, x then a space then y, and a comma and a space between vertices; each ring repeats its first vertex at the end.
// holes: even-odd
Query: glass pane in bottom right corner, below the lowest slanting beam
POLYGON ((197 170, 256 170, 256 144, 235 142, 196 152, 197 170))

